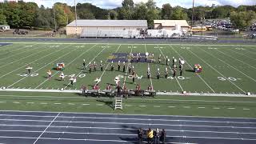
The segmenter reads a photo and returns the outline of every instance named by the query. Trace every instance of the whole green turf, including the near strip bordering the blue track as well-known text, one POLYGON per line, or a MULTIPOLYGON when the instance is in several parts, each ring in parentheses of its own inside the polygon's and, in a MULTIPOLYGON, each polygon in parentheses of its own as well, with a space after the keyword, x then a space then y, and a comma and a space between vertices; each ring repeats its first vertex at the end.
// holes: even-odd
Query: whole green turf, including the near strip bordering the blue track
MULTIPOLYGON (((152 85, 154 90, 181 93, 203 92, 205 96, 157 96, 156 98, 129 98, 124 100, 124 110, 114 111, 114 99, 85 98, 70 93, 39 93, 39 92, 4 92, 0 91, 1 110, 40 110, 40 111, 72 111, 122 114, 172 114, 215 117, 256 118, 256 98, 209 97, 210 94, 245 94, 256 93, 256 46, 233 45, 144 45, 144 44, 76 44, 76 43, 40 43, 24 42, 3 46, 0 43, 0 87, 12 89, 42 89, 42 90, 80 90, 82 84, 91 89, 95 78, 101 78, 101 89, 107 83, 115 84, 114 78, 119 75, 121 85, 134 89, 141 84, 142 89, 152 85), (154 53, 168 58, 184 58, 184 73, 182 77, 164 78, 165 59, 162 63, 132 63, 138 76, 132 82, 129 74, 110 71, 108 58, 113 53, 154 53), (82 70, 82 61, 104 63, 103 71, 99 67, 96 72, 88 73, 82 70), (65 62, 62 72, 65 81, 59 81, 60 71, 54 70, 56 63, 65 62), (26 74, 26 66, 33 70, 26 74), (191 70, 194 64, 202 66, 202 73, 195 74, 191 70), (147 67, 150 67, 152 78, 146 78, 147 67), (156 70, 161 70, 161 78, 156 78, 156 70), (47 78, 47 70, 52 70, 53 78, 47 78), (77 77, 74 86, 70 86, 70 76, 77 77)), ((171 64, 171 62, 170 62, 171 64)), ((177 63, 178 64, 178 63, 177 63)), ((126 65, 127 66, 127 65, 126 65)), ((127 67, 126 67, 127 69, 127 67)), ((122 66, 121 66, 122 70, 122 66)), ((179 75, 179 70, 178 70, 179 75)), ((64 90, 64 91, 65 91, 64 90)))

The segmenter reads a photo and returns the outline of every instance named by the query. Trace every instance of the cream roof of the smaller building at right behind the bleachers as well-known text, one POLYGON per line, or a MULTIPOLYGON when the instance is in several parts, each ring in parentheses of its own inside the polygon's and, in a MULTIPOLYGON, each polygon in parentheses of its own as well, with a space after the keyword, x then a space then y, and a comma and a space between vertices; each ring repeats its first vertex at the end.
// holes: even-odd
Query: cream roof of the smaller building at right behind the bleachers
POLYGON ((162 24, 162 26, 189 26, 186 20, 154 20, 154 24, 162 24))

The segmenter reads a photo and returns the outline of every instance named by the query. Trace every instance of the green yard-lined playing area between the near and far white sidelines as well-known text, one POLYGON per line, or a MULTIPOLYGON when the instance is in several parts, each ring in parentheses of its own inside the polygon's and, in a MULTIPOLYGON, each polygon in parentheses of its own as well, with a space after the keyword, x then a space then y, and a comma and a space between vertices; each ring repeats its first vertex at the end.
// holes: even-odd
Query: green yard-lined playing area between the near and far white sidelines
MULTIPOLYGON (((134 89, 136 84, 141 84, 142 89, 148 85, 154 90, 182 92, 203 92, 218 94, 245 94, 256 93, 256 46, 218 46, 218 45, 127 45, 127 44, 44 44, 44 43, 14 43, 8 46, 0 46, 0 85, 7 88, 19 89, 60 89, 79 90, 82 84, 94 86, 94 79, 101 78, 100 86, 105 89, 107 83, 114 84, 114 78, 121 76, 121 83, 126 83, 129 89, 134 89), (165 59, 162 63, 132 63, 136 74, 142 79, 136 79, 132 83, 129 74, 117 71, 117 63, 114 63, 114 71, 110 71, 107 58, 113 53, 154 53, 168 58, 184 58, 184 72, 176 78, 164 78, 166 68, 165 59), (104 69, 91 74, 82 70, 82 60, 105 64, 104 69), (60 71, 53 70, 57 62, 65 62, 63 73, 67 76, 65 81, 59 81, 60 71), (33 67, 32 74, 26 74, 26 66, 33 67), (192 72, 194 64, 202 66, 202 73, 192 72), (150 67, 152 78, 146 78, 147 67, 150 67), (156 70, 160 69, 161 76, 156 78, 156 70), (52 70, 53 78, 48 79, 47 70, 52 70), (70 86, 69 77, 77 77, 74 86, 70 86)), ((172 62, 170 62, 171 64, 172 62)), ((178 65, 178 63, 177 63, 178 65)), ((169 76, 172 75, 170 66, 169 76)), ((122 66, 121 66, 122 70, 122 66)))

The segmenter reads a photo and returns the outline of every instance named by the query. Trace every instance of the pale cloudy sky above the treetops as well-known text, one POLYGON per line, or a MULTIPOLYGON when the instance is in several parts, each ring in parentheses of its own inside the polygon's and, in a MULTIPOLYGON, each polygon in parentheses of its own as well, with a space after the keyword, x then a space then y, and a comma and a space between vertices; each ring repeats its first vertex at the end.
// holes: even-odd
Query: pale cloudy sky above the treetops
MULTIPOLYGON (((0 0, 2 2, 4 0, 0 0)), ((14 1, 14 0, 13 0, 14 1)), ((16 0, 17 1, 17 0, 16 0)), ((23 0, 24 2, 36 2, 38 6, 51 7, 54 2, 64 2, 70 6, 74 6, 74 0, 23 0)), ((193 0, 154 0, 158 7, 162 7, 163 4, 170 3, 171 6, 182 6, 186 8, 192 7, 193 0)), ((256 5, 256 0, 194 0, 195 6, 216 6, 222 5, 231 5, 231 6, 240 6, 240 5, 256 5)), ((76 0, 80 3, 92 3, 95 6, 111 9, 118 6, 122 6, 122 0, 76 0)), ((138 2, 147 2, 147 0, 134 0, 135 3, 138 2)))

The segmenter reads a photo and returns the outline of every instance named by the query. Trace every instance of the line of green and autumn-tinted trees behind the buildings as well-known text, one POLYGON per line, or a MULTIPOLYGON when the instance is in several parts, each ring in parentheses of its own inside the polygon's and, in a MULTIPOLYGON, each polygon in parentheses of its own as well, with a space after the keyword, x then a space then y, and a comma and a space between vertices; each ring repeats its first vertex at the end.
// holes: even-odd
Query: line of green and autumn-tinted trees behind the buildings
MULTIPOLYGON (((230 18, 238 28, 249 26, 256 18, 256 6, 197 6, 194 7, 194 20, 201 18, 230 18)), ((123 0, 122 6, 113 10, 105 10, 90 3, 78 3, 77 14, 80 19, 146 19, 150 27, 154 19, 192 19, 192 8, 171 6, 171 3, 156 6, 154 0, 134 3, 133 0, 123 0)), ((53 8, 38 7, 34 2, 1 2, 0 25, 11 27, 54 28, 66 26, 74 21, 74 6, 66 3, 54 3, 53 8)))

